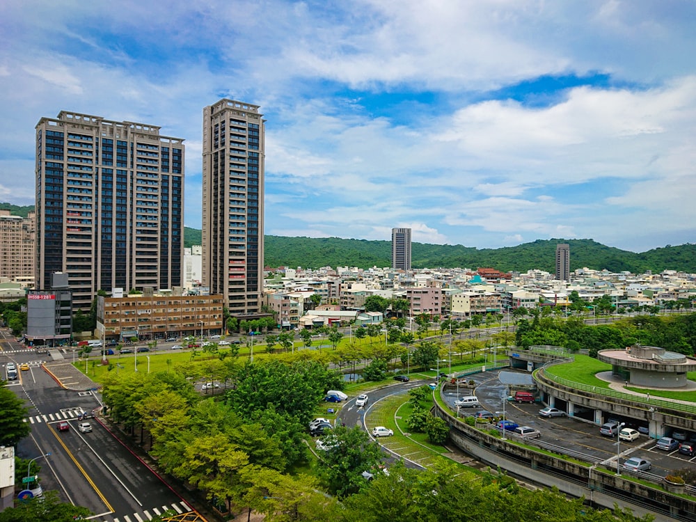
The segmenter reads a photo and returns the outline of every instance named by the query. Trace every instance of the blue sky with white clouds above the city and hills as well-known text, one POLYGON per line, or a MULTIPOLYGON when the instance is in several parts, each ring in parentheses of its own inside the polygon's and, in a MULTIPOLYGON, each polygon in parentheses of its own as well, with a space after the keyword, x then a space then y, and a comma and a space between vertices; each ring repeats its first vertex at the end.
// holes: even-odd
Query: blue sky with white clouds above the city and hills
POLYGON ((75 111, 186 140, 267 120, 267 235, 478 248, 695 242, 690 0, 4 0, 0 201, 34 203, 34 127, 75 111))

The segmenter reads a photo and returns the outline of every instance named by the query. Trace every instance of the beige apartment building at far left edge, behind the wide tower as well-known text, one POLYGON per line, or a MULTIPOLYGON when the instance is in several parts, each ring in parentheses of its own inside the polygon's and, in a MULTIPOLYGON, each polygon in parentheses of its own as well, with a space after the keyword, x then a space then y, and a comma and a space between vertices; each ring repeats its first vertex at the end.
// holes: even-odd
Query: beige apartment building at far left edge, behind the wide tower
POLYGON ((0 209, 0 280, 33 287, 36 214, 26 218, 0 209))

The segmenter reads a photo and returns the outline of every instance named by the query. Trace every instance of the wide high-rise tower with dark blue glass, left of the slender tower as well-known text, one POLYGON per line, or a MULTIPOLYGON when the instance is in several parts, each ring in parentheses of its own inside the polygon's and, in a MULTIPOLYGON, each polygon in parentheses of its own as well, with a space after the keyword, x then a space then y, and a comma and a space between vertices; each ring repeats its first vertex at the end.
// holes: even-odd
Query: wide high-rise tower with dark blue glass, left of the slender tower
POLYGON ((183 139, 61 111, 36 125, 36 288, 68 274, 75 308, 97 290, 182 283, 183 139))

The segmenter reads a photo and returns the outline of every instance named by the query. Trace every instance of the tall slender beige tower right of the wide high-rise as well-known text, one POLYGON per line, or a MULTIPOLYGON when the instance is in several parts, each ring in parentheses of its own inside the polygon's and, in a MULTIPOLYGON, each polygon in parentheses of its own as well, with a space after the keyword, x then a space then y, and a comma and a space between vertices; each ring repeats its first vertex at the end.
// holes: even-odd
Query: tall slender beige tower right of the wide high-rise
POLYGON ((258 105, 203 109, 203 285, 231 315, 259 313, 263 290, 265 121, 258 105))

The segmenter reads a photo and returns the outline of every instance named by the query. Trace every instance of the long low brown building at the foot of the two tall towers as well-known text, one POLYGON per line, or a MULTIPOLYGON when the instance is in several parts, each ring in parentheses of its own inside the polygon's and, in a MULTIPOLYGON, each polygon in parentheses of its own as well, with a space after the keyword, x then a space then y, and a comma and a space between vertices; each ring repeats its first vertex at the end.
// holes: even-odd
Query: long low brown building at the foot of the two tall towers
POLYGON ((152 340, 225 332, 223 296, 97 297, 97 331, 104 340, 152 340))

